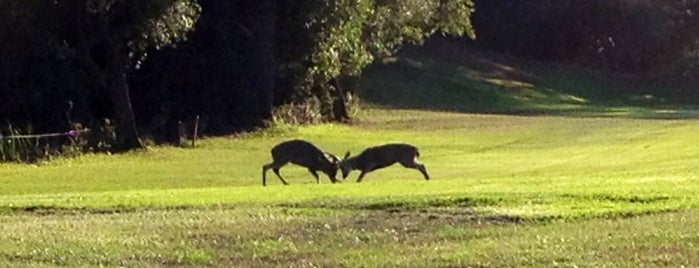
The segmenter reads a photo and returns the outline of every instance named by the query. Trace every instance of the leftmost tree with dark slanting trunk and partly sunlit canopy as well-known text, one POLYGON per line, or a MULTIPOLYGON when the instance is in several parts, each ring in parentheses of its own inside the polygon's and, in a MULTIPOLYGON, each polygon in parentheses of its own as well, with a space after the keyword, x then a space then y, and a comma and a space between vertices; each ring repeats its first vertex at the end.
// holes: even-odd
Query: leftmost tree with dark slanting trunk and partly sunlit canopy
POLYGON ((113 149, 141 148, 126 76, 138 68, 148 48, 186 37, 200 12, 195 0, 7 0, 0 4, 11 8, 6 11, 11 14, 31 15, 0 19, 0 25, 23 26, 17 28, 11 45, 26 45, 25 58, 68 62, 71 71, 87 73, 89 80, 83 83, 106 91, 113 105, 117 138, 113 149))

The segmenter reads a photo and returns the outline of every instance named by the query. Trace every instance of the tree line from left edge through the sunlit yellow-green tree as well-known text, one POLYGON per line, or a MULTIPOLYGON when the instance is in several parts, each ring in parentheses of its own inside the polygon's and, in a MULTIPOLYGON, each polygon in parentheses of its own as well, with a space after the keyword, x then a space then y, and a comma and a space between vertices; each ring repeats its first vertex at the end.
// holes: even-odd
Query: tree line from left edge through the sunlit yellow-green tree
POLYGON ((335 81, 404 42, 472 36, 472 11, 470 0, 0 0, 0 120, 46 132, 110 118, 120 151, 193 115, 229 133, 317 98, 334 119, 335 81))

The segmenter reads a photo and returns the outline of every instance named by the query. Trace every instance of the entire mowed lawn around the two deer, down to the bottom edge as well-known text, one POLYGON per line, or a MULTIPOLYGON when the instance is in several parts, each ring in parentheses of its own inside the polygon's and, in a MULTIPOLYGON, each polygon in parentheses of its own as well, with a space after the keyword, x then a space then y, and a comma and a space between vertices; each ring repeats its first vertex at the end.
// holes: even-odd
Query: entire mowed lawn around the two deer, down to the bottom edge
POLYGON ((699 120, 367 109, 196 148, 0 164, 0 266, 699 266, 699 120), (321 183, 274 144, 420 148, 321 183))

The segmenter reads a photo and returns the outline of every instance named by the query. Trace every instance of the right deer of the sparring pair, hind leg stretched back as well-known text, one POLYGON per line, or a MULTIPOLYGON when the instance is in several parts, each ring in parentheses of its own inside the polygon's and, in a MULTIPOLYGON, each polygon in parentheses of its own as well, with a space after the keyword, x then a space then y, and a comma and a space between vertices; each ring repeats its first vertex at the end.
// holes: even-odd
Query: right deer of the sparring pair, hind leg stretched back
POLYGON ((342 171, 343 179, 346 179, 352 170, 360 170, 361 173, 357 178, 357 182, 361 182, 364 176, 371 171, 400 163, 406 168, 419 170, 425 177, 425 180, 429 180, 430 175, 427 174, 425 165, 417 160, 419 156, 420 152, 413 145, 389 143, 369 147, 353 157, 350 157, 350 152, 348 151, 342 161, 340 161, 340 170, 342 171))

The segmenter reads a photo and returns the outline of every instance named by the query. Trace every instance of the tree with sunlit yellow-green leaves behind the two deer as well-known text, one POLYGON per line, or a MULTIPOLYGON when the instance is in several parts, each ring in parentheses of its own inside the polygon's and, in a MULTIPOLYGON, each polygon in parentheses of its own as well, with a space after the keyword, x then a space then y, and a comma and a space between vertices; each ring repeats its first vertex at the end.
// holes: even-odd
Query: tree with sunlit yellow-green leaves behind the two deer
POLYGON ((471 0, 282 0, 281 5, 280 43, 296 44, 280 51, 282 74, 294 81, 297 97, 319 98, 321 112, 335 119, 347 115, 337 79, 358 76, 402 44, 421 43, 435 33, 475 38, 471 0))

